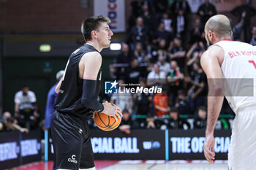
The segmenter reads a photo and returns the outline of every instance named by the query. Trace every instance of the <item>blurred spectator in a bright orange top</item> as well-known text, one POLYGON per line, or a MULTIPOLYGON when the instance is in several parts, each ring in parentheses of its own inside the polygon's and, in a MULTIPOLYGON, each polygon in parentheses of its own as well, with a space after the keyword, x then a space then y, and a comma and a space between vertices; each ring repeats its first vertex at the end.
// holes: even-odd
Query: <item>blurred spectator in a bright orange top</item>
POLYGON ((162 88, 162 93, 157 93, 154 95, 154 115, 157 117, 162 117, 163 115, 167 115, 170 111, 169 100, 167 96, 167 89, 162 88))

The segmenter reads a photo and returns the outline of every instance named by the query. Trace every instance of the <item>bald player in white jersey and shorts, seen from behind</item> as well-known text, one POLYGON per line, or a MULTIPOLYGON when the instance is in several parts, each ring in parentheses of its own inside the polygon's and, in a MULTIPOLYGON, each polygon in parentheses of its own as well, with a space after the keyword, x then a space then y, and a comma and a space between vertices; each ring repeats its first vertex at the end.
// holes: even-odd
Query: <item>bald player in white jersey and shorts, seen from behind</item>
POLYGON ((236 113, 228 153, 229 169, 255 170, 256 48, 244 42, 232 41, 230 20, 225 15, 211 17, 206 23, 205 32, 206 41, 211 46, 200 59, 209 86, 204 155, 209 163, 214 163, 214 127, 225 96, 236 113), (252 80, 252 83, 246 80, 252 80), (225 82, 226 88, 223 86, 225 82), (243 96, 248 88, 251 89, 250 94, 243 96), (226 90, 233 96, 226 95, 226 90))

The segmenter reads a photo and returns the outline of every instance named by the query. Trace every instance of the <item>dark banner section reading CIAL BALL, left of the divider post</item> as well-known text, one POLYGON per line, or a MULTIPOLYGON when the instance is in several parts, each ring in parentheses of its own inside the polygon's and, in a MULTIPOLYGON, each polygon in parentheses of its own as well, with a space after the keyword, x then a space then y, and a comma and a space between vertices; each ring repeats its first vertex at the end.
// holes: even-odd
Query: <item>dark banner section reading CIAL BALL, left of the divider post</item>
POLYGON ((91 144, 95 160, 165 160, 165 131, 91 130, 91 144))

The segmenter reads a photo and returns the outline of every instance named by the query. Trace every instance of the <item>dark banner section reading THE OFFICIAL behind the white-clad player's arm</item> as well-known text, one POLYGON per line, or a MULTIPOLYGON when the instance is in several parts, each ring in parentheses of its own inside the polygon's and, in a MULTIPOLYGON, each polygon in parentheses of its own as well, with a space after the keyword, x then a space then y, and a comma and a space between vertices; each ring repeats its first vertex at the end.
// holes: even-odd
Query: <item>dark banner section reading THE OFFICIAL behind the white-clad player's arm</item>
MULTIPOLYGON (((203 130, 169 130, 169 159, 203 160, 203 144, 205 142, 203 130)), ((231 130, 219 130, 214 132, 217 160, 226 160, 230 145, 231 130)))

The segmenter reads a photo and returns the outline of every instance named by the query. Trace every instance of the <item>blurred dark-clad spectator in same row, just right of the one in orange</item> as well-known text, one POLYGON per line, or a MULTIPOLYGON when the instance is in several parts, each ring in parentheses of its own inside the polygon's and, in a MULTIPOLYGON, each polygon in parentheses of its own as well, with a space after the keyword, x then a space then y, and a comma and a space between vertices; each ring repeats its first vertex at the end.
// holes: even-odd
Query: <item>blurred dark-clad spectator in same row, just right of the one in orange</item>
POLYGON ((189 100, 186 97, 184 90, 178 90, 175 107, 181 115, 191 115, 189 100))

